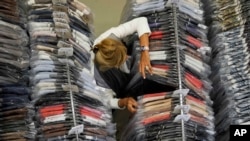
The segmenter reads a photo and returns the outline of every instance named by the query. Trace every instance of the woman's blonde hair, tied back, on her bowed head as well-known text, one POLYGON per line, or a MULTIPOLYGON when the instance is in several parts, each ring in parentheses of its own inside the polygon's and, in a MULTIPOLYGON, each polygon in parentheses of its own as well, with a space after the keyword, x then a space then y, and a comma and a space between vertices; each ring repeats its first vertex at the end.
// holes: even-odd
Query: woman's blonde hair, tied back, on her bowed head
POLYGON ((101 43, 95 45, 94 62, 98 65, 100 71, 106 71, 111 68, 119 68, 127 58, 127 48, 120 41, 112 38, 106 38, 101 43))

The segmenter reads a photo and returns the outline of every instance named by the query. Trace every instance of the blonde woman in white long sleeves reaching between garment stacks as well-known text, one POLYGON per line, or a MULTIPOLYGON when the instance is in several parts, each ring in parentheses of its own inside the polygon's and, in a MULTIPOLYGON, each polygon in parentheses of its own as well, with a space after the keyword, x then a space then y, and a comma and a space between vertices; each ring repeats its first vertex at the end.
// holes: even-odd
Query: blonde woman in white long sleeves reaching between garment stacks
MULTIPOLYGON (((94 62, 99 71, 119 68, 121 71, 129 72, 125 63, 128 58, 127 48, 121 42, 121 39, 135 32, 138 34, 141 46, 139 72, 144 79, 146 78, 146 71, 152 74, 148 52, 151 31, 145 17, 138 17, 117 27, 110 28, 94 41, 94 62)), ((109 104, 113 109, 127 108, 131 113, 136 112, 137 108, 137 102, 132 97, 122 99, 111 98, 109 104)))

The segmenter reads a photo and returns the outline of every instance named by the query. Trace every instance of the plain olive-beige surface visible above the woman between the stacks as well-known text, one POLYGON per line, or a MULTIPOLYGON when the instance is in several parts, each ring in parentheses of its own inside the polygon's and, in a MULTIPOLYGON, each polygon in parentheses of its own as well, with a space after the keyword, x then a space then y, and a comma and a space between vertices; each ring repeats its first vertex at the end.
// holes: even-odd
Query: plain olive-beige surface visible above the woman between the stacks
POLYGON ((94 14, 94 30, 98 36, 120 23, 122 9, 126 0, 80 0, 94 14))

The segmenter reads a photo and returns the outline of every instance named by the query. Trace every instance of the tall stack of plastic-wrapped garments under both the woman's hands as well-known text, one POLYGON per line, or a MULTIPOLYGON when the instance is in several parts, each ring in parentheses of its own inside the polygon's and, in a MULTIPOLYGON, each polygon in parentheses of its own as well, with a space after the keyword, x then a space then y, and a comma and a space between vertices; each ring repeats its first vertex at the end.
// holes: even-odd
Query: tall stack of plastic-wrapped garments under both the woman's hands
MULTIPOLYGON (((122 21, 140 16, 147 17, 152 31, 149 54, 153 75, 148 74, 146 79, 174 90, 158 87, 138 96, 140 107, 127 129, 132 125, 138 128, 125 130, 123 140, 215 140, 209 79, 211 47, 203 3, 199 0, 127 2, 122 21), (127 11, 130 15, 125 14, 127 11)), ((138 38, 130 37, 127 42, 132 47, 131 73, 136 79, 136 62, 140 58, 138 38)))

